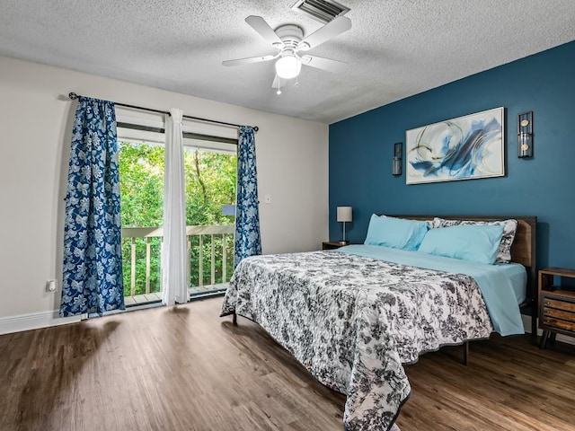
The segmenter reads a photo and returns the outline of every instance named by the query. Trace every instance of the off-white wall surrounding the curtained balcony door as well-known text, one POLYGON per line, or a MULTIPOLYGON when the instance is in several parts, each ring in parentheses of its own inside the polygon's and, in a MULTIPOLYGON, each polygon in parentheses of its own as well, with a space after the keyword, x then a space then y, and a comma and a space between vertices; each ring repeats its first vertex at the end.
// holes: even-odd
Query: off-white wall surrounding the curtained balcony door
POLYGON ((68 92, 258 126, 263 252, 318 250, 328 238, 327 125, 0 57, 0 333, 57 323, 68 92), (49 278, 56 295, 45 292, 49 278))

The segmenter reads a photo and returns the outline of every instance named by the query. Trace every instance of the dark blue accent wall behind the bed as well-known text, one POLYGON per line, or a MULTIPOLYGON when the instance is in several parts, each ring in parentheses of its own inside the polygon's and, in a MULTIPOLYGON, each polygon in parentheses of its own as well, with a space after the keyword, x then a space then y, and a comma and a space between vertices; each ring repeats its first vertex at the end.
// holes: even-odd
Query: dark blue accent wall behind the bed
POLYGON ((537 216, 537 266, 575 268, 575 41, 330 126, 330 239, 353 207, 350 242, 373 214, 537 216), (504 107, 505 176, 418 185, 392 175, 405 131, 504 107), (534 112, 534 157, 517 158, 517 114, 534 112))

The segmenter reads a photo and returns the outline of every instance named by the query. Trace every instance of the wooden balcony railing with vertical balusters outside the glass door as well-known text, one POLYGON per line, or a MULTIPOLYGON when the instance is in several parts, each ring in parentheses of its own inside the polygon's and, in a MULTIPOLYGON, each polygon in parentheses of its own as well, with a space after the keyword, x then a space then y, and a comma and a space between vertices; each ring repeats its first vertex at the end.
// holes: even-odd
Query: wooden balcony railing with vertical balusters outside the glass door
MULTIPOLYGON (((226 288, 234 269, 234 225, 186 226, 186 236, 190 294, 226 288)), ((127 304, 161 298, 163 239, 162 227, 122 228, 124 296, 132 300, 127 304)))

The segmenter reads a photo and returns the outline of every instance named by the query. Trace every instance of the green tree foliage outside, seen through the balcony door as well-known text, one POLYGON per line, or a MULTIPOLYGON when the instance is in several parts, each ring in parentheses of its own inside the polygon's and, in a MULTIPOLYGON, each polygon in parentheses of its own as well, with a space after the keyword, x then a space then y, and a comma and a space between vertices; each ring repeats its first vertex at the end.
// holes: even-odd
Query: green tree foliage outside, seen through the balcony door
MULTIPOLYGON (((184 152, 186 224, 234 224, 222 215, 222 205, 235 202, 236 154, 198 149, 184 152)), ((122 227, 160 227, 164 217, 164 146, 132 142, 119 144, 119 185, 122 227)), ((190 286, 199 286, 199 236, 190 239, 190 286)), ((202 235, 203 285, 211 282, 211 236, 202 235)), ((233 235, 226 236, 226 278, 223 279, 222 235, 214 236, 216 283, 228 281, 234 268, 233 235)), ((159 237, 149 238, 150 292, 160 291, 159 237)), ((130 295, 131 240, 122 239, 124 295, 130 295)), ((146 293, 146 240, 136 239, 135 295, 146 293)))

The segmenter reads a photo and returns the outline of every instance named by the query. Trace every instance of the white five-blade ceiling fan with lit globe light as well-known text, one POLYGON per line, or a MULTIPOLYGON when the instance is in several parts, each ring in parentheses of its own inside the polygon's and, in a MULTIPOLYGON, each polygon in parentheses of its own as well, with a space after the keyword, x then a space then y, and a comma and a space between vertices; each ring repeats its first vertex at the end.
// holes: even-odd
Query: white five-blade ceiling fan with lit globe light
POLYGON ((278 89, 278 94, 281 93, 280 88, 284 84, 281 80, 296 78, 296 76, 299 75, 302 65, 316 67, 329 72, 339 72, 346 66, 346 64, 341 61, 305 54, 305 51, 317 47, 326 40, 330 40, 344 31, 348 31, 351 28, 351 21, 345 16, 340 16, 328 22, 305 38, 304 31, 295 24, 281 25, 274 31, 270 27, 270 24, 261 18, 261 16, 250 15, 245 19, 245 22, 252 26, 253 30, 260 33, 263 39, 270 42, 271 46, 276 48, 278 52, 275 55, 269 56, 226 60, 222 62, 222 65, 238 66, 278 58, 275 65, 276 76, 273 80, 273 84, 271 84, 273 88, 278 89))

